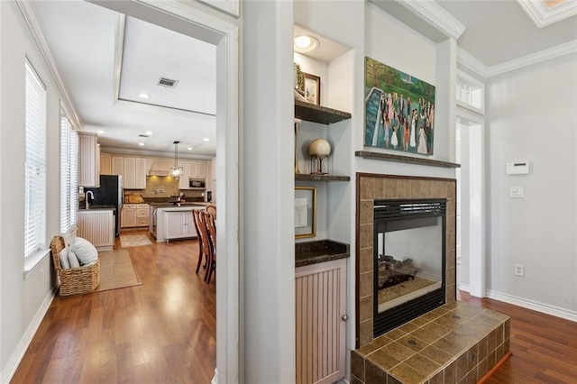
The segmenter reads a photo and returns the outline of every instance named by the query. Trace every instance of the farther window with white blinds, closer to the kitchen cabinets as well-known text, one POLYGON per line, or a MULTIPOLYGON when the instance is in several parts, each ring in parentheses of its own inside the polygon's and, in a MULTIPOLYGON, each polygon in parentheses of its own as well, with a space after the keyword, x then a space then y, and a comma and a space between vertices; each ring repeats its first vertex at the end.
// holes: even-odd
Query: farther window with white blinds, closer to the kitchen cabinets
POLYGON ((60 114, 60 233, 78 223, 78 133, 64 113, 60 114))

